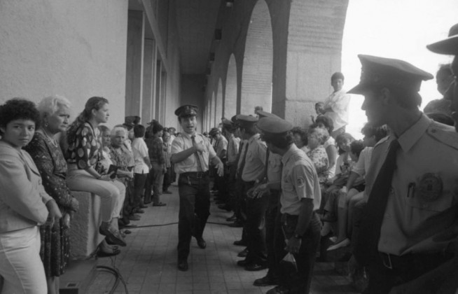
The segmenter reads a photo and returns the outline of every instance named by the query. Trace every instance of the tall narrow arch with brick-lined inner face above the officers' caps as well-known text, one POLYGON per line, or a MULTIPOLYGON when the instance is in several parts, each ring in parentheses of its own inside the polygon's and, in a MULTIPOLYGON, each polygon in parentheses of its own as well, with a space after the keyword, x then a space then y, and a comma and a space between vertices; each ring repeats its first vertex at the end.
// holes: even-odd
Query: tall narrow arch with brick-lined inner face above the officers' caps
POLYGON ((267 3, 260 0, 254 6, 245 43, 242 69, 240 109, 254 113, 255 106, 272 109, 272 23, 267 3))

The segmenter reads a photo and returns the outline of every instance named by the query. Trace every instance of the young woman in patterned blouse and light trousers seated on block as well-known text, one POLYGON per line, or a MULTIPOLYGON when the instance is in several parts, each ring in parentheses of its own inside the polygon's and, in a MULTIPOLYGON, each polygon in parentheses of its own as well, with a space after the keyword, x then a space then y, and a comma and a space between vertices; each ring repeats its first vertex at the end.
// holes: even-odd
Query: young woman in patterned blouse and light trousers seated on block
POLYGON ((95 169, 102 156, 98 126, 106 123, 108 118, 108 100, 103 97, 91 97, 86 102, 83 112, 70 125, 67 132, 67 184, 71 190, 94 193, 101 198, 100 234, 112 244, 126 246, 118 230, 125 186, 119 181, 113 181, 111 174, 100 174, 95 169))

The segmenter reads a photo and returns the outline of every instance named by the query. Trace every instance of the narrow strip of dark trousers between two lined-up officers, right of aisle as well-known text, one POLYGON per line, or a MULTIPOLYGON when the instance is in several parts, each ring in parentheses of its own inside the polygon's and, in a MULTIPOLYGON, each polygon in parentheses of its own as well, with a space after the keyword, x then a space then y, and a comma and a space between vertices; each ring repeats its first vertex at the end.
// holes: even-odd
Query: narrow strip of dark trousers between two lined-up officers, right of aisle
POLYGON ((267 247, 268 261, 268 276, 278 276, 278 260, 275 258, 275 230, 279 230, 279 226, 275 225, 276 220, 279 220, 280 194, 281 190, 270 190, 270 195, 265 195, 269 198, 268 208, 265 211, 265 246, 267 247))

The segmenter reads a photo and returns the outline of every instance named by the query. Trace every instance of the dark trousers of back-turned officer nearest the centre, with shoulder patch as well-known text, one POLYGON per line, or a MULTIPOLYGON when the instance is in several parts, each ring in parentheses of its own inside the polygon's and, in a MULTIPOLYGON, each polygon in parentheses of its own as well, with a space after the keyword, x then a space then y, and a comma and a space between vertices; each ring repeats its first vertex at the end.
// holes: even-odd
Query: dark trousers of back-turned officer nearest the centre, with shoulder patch
MULTIPOLYGON (((293 237, 298 223, 298 216, 282 214, 280 221, 282 230, 277 232, 277 238, 285 240, 293 237)), ((298 271, 291 274, 291 272, 280 268, 280 285, 289 288, 289 293, 309 293, 310 291, 310 282, 312 281, 313 266, 319 245, 320 230, 321 223, 317 214, 314 213, 307 231, 301 239, 299 253, 294 254, 298 271)), ((278 246, 277 256, 281 260, 286 255, 286 251, 284 250, 284 246, 279 246, 282 242, 276 241, 276 244, 278 246)))

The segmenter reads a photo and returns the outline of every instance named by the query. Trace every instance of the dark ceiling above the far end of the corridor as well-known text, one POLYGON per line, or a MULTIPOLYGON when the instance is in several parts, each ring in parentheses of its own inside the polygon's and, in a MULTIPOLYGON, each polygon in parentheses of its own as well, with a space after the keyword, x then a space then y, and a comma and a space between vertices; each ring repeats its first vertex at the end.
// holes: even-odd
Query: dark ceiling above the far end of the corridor
POLYGON ((175 0, 181 73, 205 73, 222 1, 175 0))

